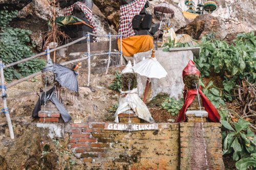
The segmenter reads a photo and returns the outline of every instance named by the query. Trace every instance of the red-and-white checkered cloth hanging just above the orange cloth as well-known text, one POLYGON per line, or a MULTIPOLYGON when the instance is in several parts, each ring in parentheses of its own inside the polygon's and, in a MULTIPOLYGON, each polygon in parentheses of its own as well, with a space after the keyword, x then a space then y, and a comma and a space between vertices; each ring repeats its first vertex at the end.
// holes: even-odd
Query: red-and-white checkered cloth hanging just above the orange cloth
POLYGON ((119 19, 119 34, 122 37, 131 37, 135 35, 132 26, 132 20, 135 15, 138 15, 142 8, 145 6, 146 0, 135 0, 134 2, 120 7, 120 19, 119 19))

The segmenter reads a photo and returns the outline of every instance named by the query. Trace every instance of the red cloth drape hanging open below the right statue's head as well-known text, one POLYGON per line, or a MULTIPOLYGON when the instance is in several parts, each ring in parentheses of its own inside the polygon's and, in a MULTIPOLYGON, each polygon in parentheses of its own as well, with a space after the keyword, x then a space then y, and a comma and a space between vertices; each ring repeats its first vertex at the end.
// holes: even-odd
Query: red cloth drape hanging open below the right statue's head
MULTIPOLYGON (((186 90, 186 89, 185 89, 186 90)), ((199 88, 199 94, 202 98, 203 107, 205 108, 205 111, 208 112, 208 118, 210 122, 220 122, 220 114, 218 113, 217 109, 214 107, 214 105, 211 104, 211 102, 207 99, 207 97, 204 95, 204 93, 201 91, 201 87, 199 88)), ((194 98, 197 97, 197 90, 186 90, 184 93, 184 105, 180 110, 179 117, 176 120, 176 122, 184 122, 185 112, 188 108, 188 106, 193 102, 194 98)))

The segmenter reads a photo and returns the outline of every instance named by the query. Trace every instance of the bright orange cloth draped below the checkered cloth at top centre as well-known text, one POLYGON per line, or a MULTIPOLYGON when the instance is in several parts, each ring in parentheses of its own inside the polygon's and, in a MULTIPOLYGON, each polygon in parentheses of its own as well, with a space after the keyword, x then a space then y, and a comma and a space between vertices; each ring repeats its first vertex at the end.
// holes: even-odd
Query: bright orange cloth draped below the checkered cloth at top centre
MULTIPOLYGON (((120 39, 117 39, 120 51, 120 39)), ((122 51, 124 56, 133 56, 136 53, 146 52, 154 48, 154 39, 150 35, 135 35, 122 38, 122 51)))

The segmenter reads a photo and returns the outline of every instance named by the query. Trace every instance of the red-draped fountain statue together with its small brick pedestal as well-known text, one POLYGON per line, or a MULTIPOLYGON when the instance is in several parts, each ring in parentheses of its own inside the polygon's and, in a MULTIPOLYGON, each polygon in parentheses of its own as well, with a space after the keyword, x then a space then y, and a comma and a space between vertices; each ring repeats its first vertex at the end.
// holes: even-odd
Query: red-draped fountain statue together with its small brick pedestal
POLYGON ((184 87, 184 105, 176 122, 220 122, 220 115, 214 105, 201 91, 200 72, 195 62, 189 60, 182 72, 184 87))

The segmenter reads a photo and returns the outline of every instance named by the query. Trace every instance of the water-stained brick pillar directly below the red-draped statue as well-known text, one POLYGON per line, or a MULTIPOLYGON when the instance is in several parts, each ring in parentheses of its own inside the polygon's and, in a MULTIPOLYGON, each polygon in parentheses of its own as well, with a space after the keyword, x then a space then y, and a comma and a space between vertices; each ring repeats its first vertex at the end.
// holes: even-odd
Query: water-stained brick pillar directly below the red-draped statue
POLYGON ((203 123, 207 164, 201 123, 181 123, 181 170, 225 169, 222 160, 221 124, 203 123))

